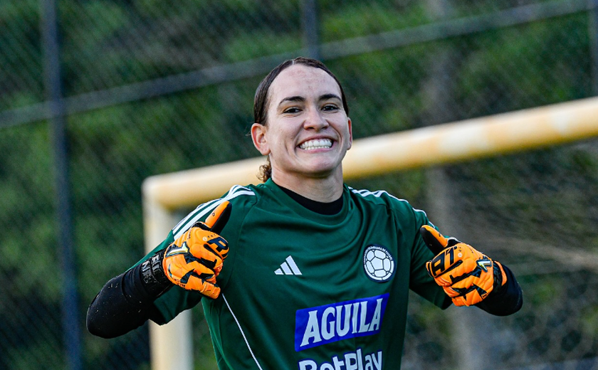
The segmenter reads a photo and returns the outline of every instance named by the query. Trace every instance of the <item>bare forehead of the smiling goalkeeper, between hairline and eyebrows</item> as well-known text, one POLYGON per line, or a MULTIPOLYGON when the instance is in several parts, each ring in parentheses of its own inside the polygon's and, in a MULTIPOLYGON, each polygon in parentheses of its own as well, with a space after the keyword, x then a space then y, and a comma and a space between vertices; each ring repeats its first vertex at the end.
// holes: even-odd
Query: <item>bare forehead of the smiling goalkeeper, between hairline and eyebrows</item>
POLYGON ((325 70, 308 65, 291 65, 280 72, 270 86, 270 97, 273 102, 291 96, 307 97, 325 94, 340 96, 339 85, 325 70))

